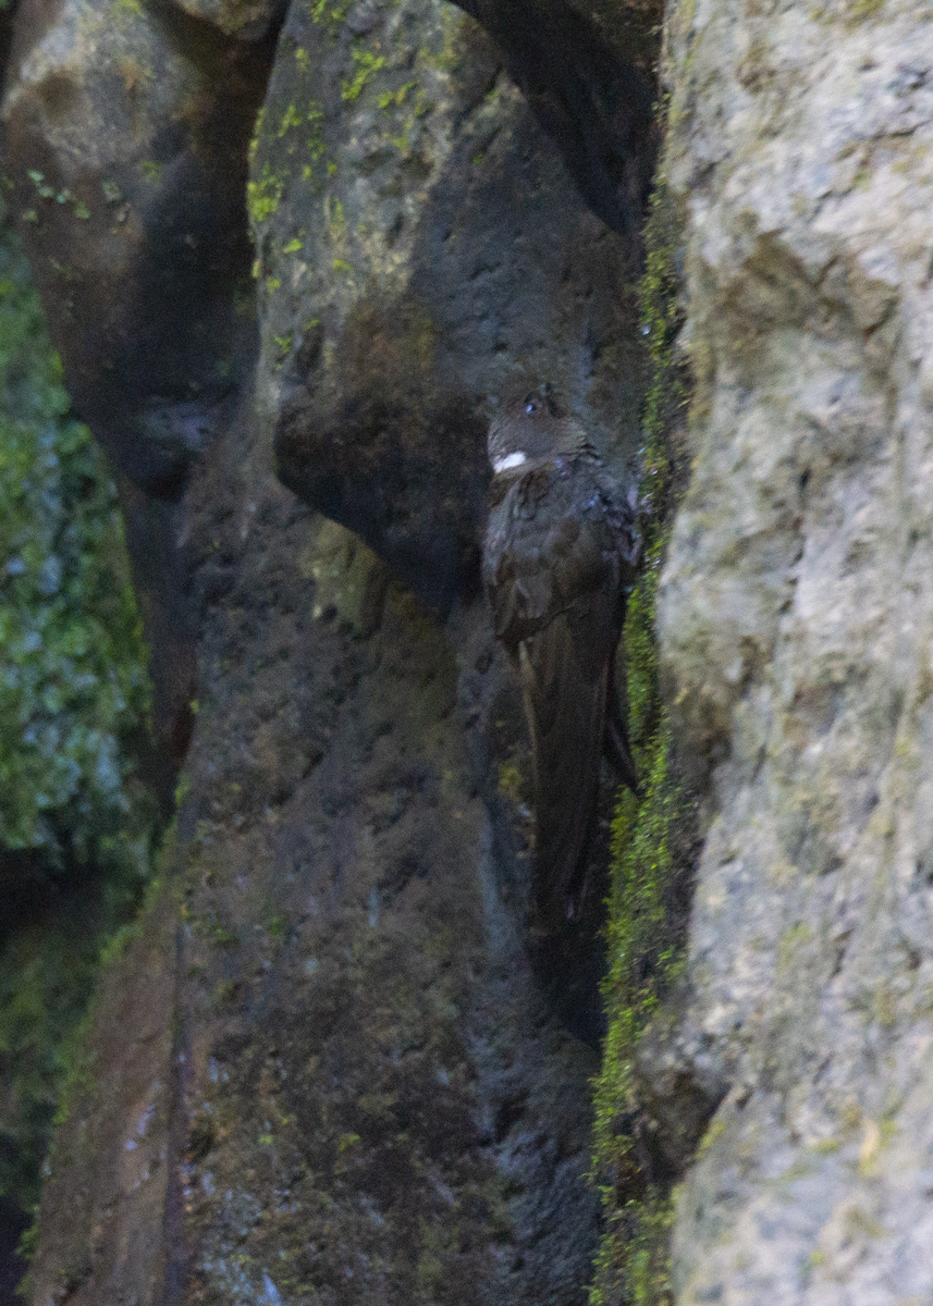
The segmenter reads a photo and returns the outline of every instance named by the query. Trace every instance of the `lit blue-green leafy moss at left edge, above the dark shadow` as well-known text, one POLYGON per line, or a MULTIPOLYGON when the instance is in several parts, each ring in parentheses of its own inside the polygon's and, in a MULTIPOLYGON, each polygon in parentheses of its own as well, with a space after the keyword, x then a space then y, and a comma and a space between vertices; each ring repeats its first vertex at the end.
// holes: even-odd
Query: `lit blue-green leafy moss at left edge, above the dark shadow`
POLYGON ((125 837, 149 680, 116 492, 69 414, 18 240, 0 236, 0 842, 50 861, 125 837))

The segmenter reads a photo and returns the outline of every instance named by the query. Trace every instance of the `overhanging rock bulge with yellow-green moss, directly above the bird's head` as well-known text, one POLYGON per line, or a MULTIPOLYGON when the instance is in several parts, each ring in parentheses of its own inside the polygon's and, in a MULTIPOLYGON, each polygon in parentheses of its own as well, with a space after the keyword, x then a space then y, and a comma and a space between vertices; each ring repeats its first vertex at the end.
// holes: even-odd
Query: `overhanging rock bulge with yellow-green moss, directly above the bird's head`
POLYGON ((632 452, 629 242, 461 10, 367 3, 335 25, 295 3, 250 210, 280 475, 429 602, 474 581, 486 426, 517 371, 632 452))

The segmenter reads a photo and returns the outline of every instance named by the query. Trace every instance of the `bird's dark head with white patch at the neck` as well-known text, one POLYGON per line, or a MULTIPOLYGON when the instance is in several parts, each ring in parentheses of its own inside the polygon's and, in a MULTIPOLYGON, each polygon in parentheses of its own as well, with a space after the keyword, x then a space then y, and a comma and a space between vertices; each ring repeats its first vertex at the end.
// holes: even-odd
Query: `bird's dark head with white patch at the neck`
POLYGON ((588 448, 587 435, 558 404, 549 385, 508 392, 493 418, 486 452, 493 471, 519 471, 588 448))

